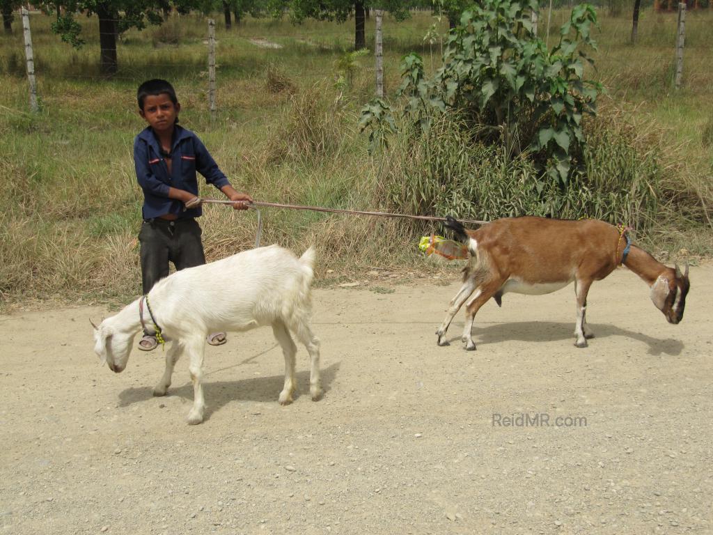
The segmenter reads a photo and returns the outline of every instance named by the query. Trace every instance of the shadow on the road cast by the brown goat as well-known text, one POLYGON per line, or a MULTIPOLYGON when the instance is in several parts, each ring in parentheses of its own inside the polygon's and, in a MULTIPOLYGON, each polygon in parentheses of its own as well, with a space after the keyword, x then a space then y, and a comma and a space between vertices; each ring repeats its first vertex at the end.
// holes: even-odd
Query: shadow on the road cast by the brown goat
MULTIPOLYGON (((682 352, 684 345, 680 340, 672 340, 671 338, 655 338, 635 332, 615 325, 609 324, 594 324, 587 323, 588 327, 594 332, 595 337, 590 340, 590 345, 597 343, 597 338, 607 338, 610 336, 621 336, 633 338, 644 342, 649 346, 648 354, 659 356, 662 354, 677 356, 682 352)), ((451 328, 458 327, 456 322, 453 322, 451 328)), ((460 324, 461 329, 463 323, 460 324)), ((574 340, 574 324, 563 322, 508 322, 498 323, 496 325, 483 326, 478 325, 473 327, 473 341, 478 344, 495 344, 497 342, 507 342, 508 340, 520 340, 522 342, 550 342, 552 340, 574 340)), ((451 337, 448 342, 460 342, 461 337, 451 337)), ((572 342, 574 344, 574 342, 572 342)))

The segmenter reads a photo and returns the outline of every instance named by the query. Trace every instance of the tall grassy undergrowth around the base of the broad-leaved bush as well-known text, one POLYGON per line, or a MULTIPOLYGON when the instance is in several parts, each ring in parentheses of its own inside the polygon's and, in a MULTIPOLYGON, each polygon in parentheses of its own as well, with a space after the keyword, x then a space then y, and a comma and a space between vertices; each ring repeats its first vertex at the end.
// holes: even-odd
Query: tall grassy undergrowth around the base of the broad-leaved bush
POLYGON ((423 135, 401 136, 391 146, 379 197, 403 213, 596 218, 650 228, 662 195, 656 152, 613 112, 586 130, 583 168, 563 187, 543 179, 525 154, 513 157, 502 144, 473 142, 462 118, 443 113, 423 135))

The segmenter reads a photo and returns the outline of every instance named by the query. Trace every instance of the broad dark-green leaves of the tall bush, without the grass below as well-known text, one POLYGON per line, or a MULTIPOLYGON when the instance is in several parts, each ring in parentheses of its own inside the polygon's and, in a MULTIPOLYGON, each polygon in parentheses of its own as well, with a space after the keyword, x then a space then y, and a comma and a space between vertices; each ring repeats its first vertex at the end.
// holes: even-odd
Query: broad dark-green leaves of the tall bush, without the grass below
POLYGON ((446 42, 443 68, 428 79, 421 58, 409 54, 399 93, 406 96, 406 115, 421 129, 429 128, 433 112, 454 109, 466 128, 478 127, 481 141, 503 142, 513 154, 529 151, 565 184, 583 142, 583 116, 595 113, 601 91, 583 78, 590 61, 584 47, 596 46, 590 36, 596 15, 588 4, 575 6, 548 51, 533 34, 533 9, 536 0, 483 0, 465 11, 446 42))

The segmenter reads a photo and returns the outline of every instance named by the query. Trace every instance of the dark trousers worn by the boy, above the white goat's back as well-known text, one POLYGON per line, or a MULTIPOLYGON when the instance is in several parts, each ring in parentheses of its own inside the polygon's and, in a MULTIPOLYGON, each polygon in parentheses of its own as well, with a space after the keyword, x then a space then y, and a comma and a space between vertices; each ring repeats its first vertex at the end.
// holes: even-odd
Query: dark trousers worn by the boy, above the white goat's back
POLYGON ((168 263, 176 270, 205 264, 200 225, 195 219, 145 220, 138 240, 141 244, 141 282, 148 291, 163 277, 168 276, 168 263))

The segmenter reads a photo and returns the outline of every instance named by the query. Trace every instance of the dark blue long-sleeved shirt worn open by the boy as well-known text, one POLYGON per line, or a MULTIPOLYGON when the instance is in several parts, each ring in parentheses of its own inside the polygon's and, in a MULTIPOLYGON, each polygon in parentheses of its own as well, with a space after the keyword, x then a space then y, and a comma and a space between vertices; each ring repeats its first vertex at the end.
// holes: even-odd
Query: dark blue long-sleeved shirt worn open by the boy
POLYGON ((160 143, 150 126, 134 138, 134 165, 136 179, 143 190, 144 219, 172 213, 178 218, 197 218, 202 214, 200 206, 183 210, 183 203, 168 197, 168 188, 185 190, 198 196, 198 171, 205 181, 220 189, 230 181, 218 168, 202 141, 190 130, 175 126, 170 156, 172 173, 161 155, 160 143))

